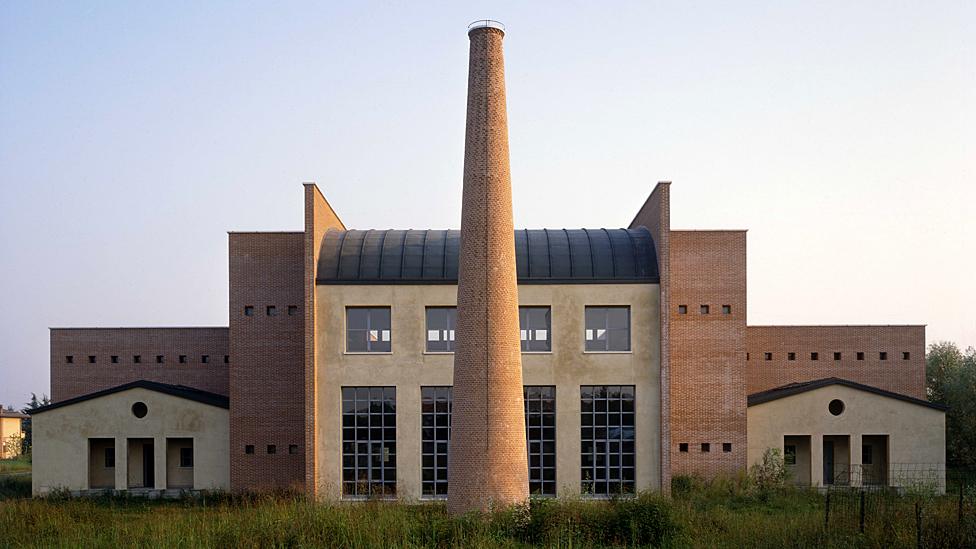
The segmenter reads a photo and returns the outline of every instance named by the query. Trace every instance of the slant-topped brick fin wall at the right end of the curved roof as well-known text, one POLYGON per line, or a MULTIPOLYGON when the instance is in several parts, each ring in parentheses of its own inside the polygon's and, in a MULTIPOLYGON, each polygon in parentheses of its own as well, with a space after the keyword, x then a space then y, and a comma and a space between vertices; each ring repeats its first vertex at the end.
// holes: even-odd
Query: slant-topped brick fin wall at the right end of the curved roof
POLYGON ((671 492, 671 183, 661 181, 647 197, 630 228, 647 227, 654 239, 661 283, 661 491, 671 492))

